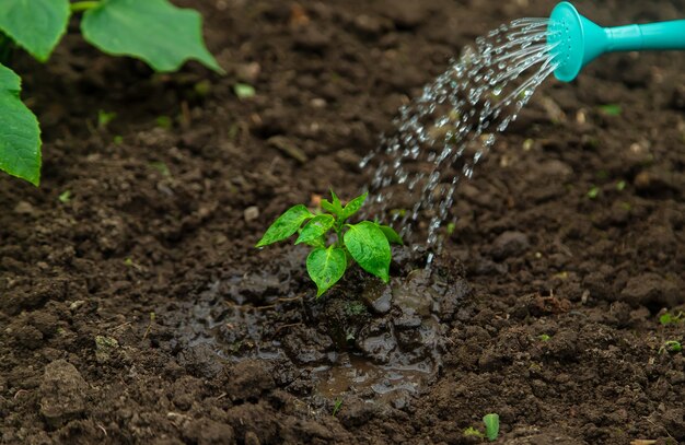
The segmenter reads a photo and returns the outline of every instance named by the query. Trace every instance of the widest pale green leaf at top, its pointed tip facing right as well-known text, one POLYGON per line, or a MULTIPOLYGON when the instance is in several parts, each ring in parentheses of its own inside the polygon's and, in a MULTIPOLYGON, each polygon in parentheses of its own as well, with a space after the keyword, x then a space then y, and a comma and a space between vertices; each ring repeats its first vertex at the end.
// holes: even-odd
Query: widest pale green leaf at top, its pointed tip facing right
POLYGON ((104 52, 137 57, 156 71, 193 59, 223 72, 205 46, 201 15, 167 0, 103 0, 83 14, 81 31, 104 52))

